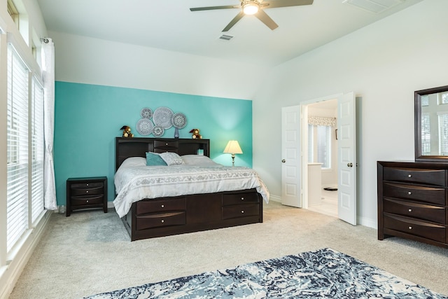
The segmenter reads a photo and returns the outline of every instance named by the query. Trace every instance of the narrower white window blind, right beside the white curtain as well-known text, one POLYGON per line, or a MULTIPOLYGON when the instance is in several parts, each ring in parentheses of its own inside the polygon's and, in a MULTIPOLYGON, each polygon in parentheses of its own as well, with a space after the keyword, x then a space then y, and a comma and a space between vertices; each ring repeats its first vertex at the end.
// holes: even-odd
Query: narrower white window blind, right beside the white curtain
POLYGON ((43 207, 43 87, 36 78, 31 81, 31 222, 43 207))

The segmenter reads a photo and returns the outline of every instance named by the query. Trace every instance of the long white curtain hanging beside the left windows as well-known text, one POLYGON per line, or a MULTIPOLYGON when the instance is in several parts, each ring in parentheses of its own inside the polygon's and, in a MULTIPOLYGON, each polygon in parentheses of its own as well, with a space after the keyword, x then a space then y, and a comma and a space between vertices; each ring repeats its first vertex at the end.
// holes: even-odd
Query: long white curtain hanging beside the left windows
POLYGON ((52 39, 42 41, 43 79, 43 130, 45 139, 45 162, 43 186, 45 209, 57 209, 55 165, 53 162, 53 132, 55 128, 55 44, 52 39), (45 43, 46 41, 46 43, 45 43))

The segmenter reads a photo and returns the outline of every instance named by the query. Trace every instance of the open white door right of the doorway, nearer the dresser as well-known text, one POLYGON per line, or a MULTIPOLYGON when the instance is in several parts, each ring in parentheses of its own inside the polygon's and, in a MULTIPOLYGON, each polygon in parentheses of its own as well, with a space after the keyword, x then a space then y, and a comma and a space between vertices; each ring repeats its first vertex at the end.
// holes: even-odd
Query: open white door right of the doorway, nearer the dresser
POLYGON ((353 92, 337 99, 337 214, 356 225, 356 104, 353 92))

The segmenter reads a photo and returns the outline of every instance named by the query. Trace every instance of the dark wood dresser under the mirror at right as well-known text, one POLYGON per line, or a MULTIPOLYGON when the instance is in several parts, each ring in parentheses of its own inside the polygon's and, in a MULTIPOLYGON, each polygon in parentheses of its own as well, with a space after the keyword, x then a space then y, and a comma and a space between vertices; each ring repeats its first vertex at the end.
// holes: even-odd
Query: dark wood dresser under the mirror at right
POLYGON ((448 248, 447 172, 440 162, 377 162, 378 239, 448 248))

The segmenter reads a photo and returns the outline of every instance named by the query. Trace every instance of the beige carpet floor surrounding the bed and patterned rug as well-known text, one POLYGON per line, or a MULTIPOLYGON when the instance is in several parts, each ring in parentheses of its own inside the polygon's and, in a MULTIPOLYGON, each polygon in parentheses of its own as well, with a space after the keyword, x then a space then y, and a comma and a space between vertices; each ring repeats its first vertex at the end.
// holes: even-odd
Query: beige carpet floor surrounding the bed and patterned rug
POLYGON ((352 226, 304 209, 265 205, 264 223, 130 242, 113 210, 53 214, 10 298, 83 296, 330 247, 448 294, 448 250, 352 226))

